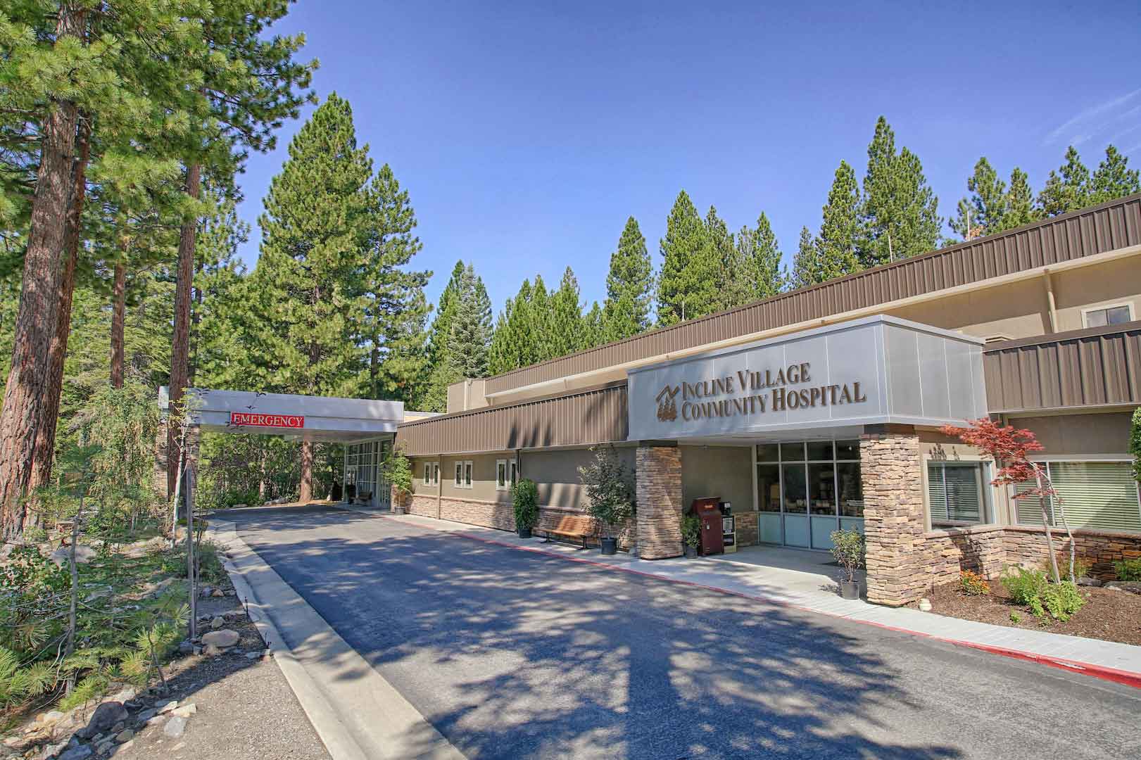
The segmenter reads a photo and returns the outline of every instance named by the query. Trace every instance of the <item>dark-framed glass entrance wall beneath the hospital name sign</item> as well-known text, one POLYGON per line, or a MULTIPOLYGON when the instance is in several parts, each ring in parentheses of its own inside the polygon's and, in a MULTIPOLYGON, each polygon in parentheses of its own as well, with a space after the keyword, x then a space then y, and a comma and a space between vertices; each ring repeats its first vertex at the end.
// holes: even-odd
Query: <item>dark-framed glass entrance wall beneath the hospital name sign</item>
POLYGON ((831 549, 836 528, 864 529, 858 440, 756 445, 761 543, 831 549))

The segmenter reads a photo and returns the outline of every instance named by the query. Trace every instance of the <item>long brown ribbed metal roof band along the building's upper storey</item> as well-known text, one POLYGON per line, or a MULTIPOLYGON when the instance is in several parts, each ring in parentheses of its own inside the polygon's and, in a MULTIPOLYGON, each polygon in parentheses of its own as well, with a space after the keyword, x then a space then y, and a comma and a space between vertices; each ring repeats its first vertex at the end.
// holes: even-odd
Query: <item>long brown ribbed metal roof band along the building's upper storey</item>
POLYGON ((495 394, 1141 243, 1141 194, 487 378, 495 394))

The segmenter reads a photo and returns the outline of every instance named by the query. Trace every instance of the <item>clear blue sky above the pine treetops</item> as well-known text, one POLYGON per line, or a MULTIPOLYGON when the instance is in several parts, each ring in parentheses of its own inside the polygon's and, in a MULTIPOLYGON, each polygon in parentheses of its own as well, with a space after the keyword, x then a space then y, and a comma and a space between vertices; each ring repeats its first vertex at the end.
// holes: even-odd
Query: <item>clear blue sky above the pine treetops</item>
MULTIPOLYGON (((944 217, 980 155, 1035 189, 1070 143, 1091 169, 1109 142, 1141 164, 1141 3, 702 5, 300 0, 275 30, 307 34, 317 94, 349 99, 411 193, 429 298, 462 258, 496 313, 567 266, 600 300, 630 215, 657 266, 681 188, 730 229, 766 211, 787 259, 880 114, 944 217)), ((299 126, 240 180, 251 266, 299 126)))

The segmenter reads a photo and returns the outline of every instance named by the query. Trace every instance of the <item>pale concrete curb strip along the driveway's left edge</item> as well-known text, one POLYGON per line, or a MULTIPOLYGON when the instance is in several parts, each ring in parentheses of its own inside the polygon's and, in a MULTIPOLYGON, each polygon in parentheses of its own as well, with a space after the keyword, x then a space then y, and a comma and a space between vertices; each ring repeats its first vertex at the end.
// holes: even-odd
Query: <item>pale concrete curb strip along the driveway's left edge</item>
POLYGON ((334 760, 463 758, 237 535, 234 523, 211 520, 209 531, 229 552, 225 568, 238 598, 334 760), (283 624, 297 650, 275 624, 275 607, 288 615, 283 624))

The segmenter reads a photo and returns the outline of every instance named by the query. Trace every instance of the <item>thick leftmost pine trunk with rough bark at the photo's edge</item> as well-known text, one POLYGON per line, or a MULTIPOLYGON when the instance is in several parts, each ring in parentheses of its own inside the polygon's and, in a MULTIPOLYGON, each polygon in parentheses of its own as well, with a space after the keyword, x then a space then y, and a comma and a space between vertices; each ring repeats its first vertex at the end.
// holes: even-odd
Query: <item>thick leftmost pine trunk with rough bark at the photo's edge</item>
MULTIPOLYGON (((83 10, 59 7, 57 39, 83 37, 83 10)), ((43 421, 51 341, 59 310, 63 253, 74 183, 78 110, 57 100, 40 128, 40 165, 24 256, 24 276, 16 315, 11 369, 0 412, 0 534, 23 531, 24 496, 35 461, 37 436, 43 421)))

